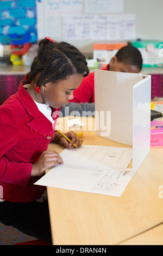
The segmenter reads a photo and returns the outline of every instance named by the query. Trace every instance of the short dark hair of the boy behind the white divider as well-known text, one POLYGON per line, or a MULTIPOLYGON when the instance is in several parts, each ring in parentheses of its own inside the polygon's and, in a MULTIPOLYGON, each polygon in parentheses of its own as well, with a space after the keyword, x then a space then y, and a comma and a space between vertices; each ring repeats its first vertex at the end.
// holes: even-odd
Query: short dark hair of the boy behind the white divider
POLYGON ((142 69, 142 56, 140 51, 131 45, 122 47, 117 53, 116 58, 118 62, 123 62, 124 64, 130 64, 136 66, 138 69, 142 69))

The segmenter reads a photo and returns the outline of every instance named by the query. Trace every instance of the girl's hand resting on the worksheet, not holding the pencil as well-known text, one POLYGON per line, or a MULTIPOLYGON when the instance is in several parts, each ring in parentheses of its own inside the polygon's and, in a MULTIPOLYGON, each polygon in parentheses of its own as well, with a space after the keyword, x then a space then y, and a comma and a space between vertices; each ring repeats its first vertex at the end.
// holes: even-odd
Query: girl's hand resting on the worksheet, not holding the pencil
POLYGON ((63 164, 61 156, 55 151, 43 151, 39 159, 32 166, 31 176, 42 176, 45 170, 52 166, 63 164))

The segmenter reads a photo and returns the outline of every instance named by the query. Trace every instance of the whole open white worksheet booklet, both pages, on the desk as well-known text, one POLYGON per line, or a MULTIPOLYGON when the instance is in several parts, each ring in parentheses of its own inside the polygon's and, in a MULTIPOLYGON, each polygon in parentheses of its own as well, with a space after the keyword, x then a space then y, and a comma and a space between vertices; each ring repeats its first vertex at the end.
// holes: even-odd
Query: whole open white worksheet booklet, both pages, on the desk
POLYGON ((49 170, 35 185, 121 197, 132 178, 127 168, 132 149, 82 145, 60 155, 64 164, 49 170))

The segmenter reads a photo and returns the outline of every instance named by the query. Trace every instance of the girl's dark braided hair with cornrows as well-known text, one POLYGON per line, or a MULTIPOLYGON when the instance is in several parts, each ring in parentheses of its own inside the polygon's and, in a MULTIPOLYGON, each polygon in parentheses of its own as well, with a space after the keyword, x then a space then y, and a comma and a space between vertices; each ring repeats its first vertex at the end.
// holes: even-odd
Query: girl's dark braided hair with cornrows
POLYGON ((74 74, 87 76, 89 69, 85 56, 75 46, 45 38, 39 42, 37 56, 27 74, 28 80, 24 82, 33 80, 38 73, 36 86, 40 88, 43 84, 65 80, 74 74))

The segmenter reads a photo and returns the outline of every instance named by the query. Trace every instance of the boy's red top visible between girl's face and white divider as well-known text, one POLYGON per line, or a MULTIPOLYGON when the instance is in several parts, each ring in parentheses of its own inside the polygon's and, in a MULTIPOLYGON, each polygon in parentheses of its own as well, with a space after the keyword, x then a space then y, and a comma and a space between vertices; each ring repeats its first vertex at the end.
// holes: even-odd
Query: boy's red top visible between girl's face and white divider
MULTIPOLYGON (((108 70, 109 64, 102 70, 108 70)), ((69 100, 69 102, 95 102, 95 79, 94 72, 91 72, 88 76, 83 77, 83 81, 80 86, 74 90, 73 99, 69 100)))

